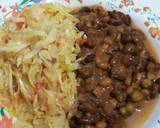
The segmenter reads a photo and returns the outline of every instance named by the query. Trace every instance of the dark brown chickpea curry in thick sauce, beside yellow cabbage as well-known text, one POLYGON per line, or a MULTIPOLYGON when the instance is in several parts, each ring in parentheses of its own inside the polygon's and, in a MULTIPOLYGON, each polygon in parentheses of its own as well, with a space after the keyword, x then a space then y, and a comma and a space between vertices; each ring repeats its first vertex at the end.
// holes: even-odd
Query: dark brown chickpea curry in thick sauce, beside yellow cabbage
MULTIPOLYGON (((100 6, 73 12, 84 58, 77 70, 77 111, 71 128, 121 128, 142 102, 160 92, 160 64, 145 47, 145 35, 131 18, 100 6)), ((133 124, 134 125, 134 124, 133 124)))

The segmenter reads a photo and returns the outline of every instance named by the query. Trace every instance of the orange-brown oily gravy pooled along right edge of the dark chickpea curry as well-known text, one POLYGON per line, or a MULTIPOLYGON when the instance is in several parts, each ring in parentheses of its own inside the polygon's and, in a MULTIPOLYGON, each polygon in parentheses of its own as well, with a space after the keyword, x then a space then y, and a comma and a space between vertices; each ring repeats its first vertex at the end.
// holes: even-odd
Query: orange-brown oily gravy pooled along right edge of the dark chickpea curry
MULTIPOLYGON (((159 61, 156 50, 148 40, 145 41, 145 46, 147 50, 150 52, 151 56, 157 61, 159 61)), ((149 117, 153 113, 159 98, 160 97, 153 99, 151 101, 143 102, 140 105, 139 109, 136 109, 135 113, 125 121, 126 122, 125 127, 126 128, 143 128, 144 123, 149 119, 149 117)))

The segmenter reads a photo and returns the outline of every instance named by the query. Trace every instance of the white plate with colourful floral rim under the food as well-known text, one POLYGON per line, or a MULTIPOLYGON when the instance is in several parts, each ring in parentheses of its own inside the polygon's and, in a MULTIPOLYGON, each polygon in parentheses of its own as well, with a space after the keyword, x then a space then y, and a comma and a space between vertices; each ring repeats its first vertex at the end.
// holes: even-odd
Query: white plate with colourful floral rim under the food
MULTIPOLYGON (((18 15, 22 8, 32 4, 59 2, 67 6, 101 4, 109 10, 129 14, 132 20, 148 37, 160 58, 160 1, 159 0, 0 0, 0 25, 4 18, 18 15)), ((160 128, 160 102, 155 107, 144 128, 160 128)), ((134 125, 134 122, 133 122, 134 125)))

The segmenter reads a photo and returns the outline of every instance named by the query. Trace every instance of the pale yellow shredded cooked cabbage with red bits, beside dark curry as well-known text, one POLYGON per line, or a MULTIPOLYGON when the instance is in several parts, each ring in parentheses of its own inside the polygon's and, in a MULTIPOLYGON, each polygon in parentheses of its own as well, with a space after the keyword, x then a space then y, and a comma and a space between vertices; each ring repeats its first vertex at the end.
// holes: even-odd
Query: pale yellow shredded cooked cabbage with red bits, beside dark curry
POLYGON ((0 106, 15 128, 69 128, 83 33, 71 9, 34 5, 0 29, 0 106))

